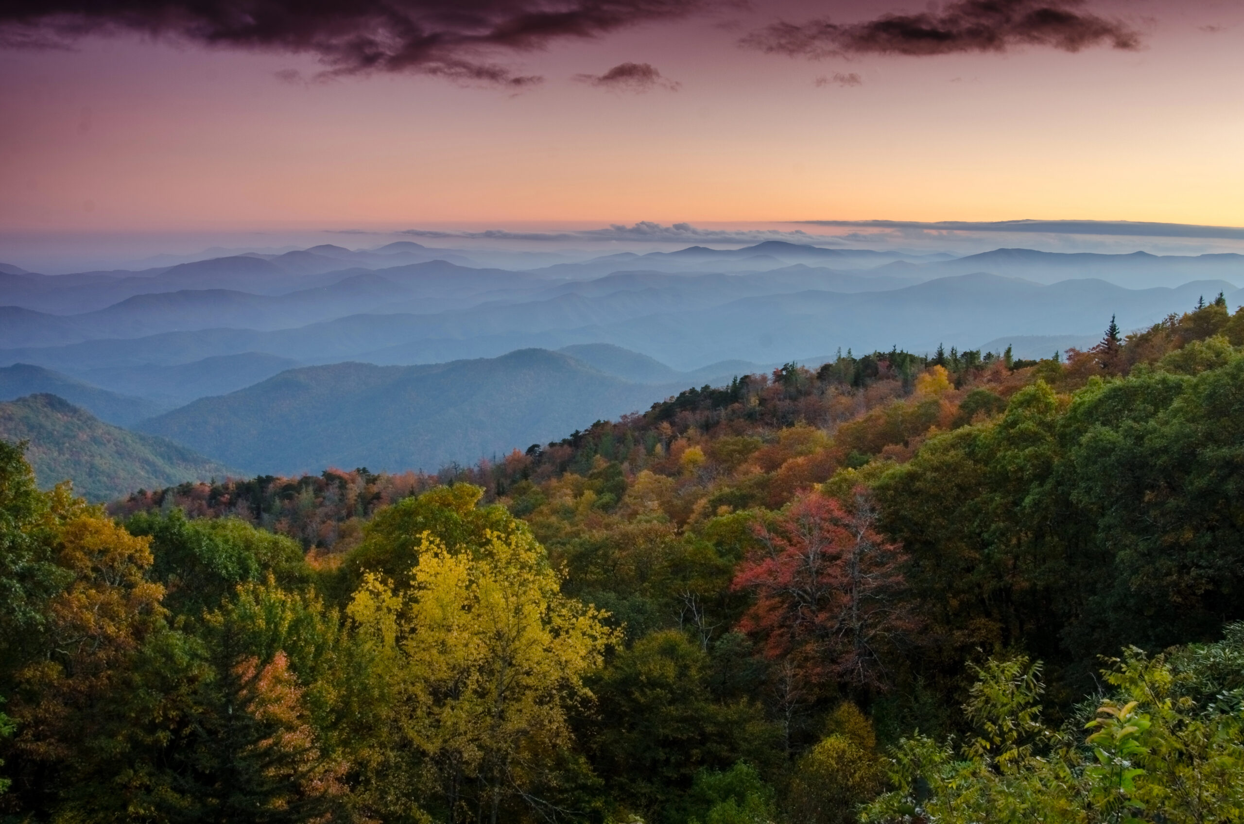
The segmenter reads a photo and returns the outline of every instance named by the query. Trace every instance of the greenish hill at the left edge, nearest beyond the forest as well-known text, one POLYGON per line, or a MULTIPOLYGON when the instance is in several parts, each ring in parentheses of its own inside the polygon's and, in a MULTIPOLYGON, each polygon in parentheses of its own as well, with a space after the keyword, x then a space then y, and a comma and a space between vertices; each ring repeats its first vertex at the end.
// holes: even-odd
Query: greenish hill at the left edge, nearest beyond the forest
POLYGON ((185 447, 104 423, 55 395, 0 403, 0 439, 30 442, 26 459, 40 487, 68 479, 88 500, 228 474, 185 447))

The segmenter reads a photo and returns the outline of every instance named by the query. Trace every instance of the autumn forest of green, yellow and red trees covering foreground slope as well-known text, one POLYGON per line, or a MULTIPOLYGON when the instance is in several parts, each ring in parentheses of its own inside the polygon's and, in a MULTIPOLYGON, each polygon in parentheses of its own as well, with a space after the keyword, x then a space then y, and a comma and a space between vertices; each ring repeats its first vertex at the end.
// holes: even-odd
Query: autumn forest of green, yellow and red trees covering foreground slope
POLYGON ((1244 310, 898 349, 495 462, 40 492, 0 820, 1244 820, 1244 310))

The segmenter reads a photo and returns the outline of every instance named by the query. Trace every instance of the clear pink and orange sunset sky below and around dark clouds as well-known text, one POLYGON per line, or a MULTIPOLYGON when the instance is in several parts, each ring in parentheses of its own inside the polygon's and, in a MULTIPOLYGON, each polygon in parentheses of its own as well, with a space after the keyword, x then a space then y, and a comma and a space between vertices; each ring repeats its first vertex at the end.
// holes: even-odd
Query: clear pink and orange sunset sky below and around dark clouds
POLYGON ((809 62, 744 51, 722 19, 693 19, 515 57, 549 77, 516 96, 418 76, 292 85, 275 72, 313 61, 136 39, 0 51, 0 229, 1244 225, 1244 11, 1118 7, 1144 27, 1142 51, 809 62), (621 61, 682 86, 571 80, 621 61), (862 83, 815 83, 833 72, 862 83))

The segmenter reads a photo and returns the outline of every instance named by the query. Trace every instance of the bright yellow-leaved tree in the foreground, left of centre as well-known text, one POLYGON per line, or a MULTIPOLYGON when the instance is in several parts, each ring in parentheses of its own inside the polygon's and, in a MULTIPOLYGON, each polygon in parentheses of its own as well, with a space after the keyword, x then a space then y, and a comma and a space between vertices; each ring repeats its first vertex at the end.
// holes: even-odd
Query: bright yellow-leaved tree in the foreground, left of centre
POLYGON ((348 614, 394 685, 391 726, 423 756, 448 820, 495 824, 506 797, 539 803, 527 790, 569 743, 567 711, 591 697, 583 675, 616 634, 561 595, 525 530, 486 531, 458 553, 430 533, 420 541, 411 588, 368 574, 348 614))

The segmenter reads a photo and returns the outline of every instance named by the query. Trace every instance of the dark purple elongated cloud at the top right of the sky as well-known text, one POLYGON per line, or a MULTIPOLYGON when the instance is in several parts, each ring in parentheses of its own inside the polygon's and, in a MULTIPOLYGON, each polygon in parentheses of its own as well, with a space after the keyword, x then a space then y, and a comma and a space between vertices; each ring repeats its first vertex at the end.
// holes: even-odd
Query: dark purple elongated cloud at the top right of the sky
POLYGON ((887 14, 855 24, 775 22, 740 42, 769 54, 819 59, 1003 52, 1015 46, 1133 50, 1140 41, 1140 34, 1122 21, 1085 11, 1084 0, 959 0, 940 11, 887 14))

